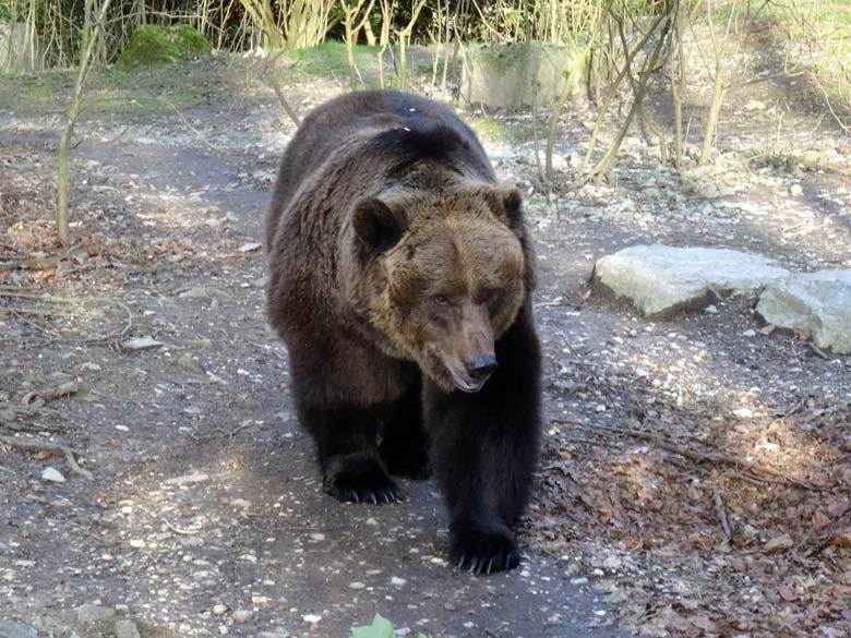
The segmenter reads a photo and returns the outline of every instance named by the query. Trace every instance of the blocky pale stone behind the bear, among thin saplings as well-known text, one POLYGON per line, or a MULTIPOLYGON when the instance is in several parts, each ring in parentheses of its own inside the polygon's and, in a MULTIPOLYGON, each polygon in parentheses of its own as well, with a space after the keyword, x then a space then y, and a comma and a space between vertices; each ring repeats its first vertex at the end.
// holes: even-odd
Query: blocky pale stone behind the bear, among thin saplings
MULTIPOLYGON (((490 45, 467 56, 460 97, 470 106, 518 111, 555 103, 576 60, 573 47, 542 43, 490 45), (537 71, 537 73, 536 73, 537 71), (536 93, 537 84, 537 93, 536 93)), ((584 73, 575 74, 576 86, 584 73)))

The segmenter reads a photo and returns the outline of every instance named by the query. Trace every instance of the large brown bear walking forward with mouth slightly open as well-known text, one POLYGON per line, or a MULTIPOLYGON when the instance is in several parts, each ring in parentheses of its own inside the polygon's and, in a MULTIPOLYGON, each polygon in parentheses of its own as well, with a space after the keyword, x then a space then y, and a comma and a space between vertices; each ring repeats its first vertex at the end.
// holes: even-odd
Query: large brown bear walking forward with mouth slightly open
POLYGON ((266 248, 324 491, 392 503, 391 476, 433 470, 453 562, 515 567, 539 447, 535 257, 475 133, 398 92, 317 107, 284 154, 266 248))

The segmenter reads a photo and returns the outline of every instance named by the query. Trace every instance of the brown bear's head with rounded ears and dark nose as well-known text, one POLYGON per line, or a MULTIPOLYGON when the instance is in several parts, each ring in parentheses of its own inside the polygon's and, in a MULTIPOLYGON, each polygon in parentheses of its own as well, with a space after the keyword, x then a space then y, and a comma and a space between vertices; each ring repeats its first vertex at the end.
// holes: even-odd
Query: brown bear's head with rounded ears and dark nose
POLYGON ((350 220, 352 301, 380 346, 445 392, 479 390, 532 286, 517 190, 403 190, 356 202, 350 220))

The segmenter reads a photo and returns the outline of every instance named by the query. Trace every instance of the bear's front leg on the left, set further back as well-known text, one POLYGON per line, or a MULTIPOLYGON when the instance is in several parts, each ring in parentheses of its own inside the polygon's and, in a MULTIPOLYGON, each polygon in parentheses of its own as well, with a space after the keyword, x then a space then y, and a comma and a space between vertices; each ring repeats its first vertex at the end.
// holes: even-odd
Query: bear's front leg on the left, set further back
POLYGON ((375 414, 356 406, 309 402, 298 389, 296 397, 301 423, 316 442, 326 493, 339 501, 376 505, 401 499, 379 455, 375 414))

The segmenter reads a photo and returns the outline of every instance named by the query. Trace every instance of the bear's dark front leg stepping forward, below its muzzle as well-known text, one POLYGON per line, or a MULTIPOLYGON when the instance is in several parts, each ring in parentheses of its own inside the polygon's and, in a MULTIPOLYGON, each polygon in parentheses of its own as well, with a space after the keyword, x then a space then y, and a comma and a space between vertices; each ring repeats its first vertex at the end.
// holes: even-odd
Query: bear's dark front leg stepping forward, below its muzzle
POLYGON ((476 394, 423 394, 432 462, 450 510, 451 557, 477 574, 516 567, 514 540, 540 436, 538 337, 527 302, 496 344, 499 368, 476 394))

